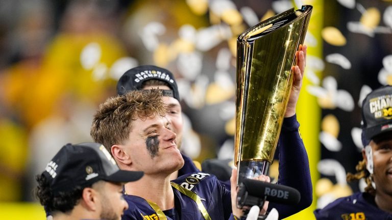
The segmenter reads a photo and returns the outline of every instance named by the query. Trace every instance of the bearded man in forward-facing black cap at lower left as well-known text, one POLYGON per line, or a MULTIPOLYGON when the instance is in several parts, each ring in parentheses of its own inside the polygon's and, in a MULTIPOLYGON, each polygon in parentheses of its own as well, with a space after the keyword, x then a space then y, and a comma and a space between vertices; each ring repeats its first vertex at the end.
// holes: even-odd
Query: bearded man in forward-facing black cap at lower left
POLYGON ((118 220, 128 209, 124 183, 142 176, 143 172, 119 170, 101 144, 67 144, 36 176, 36 196, 55 220, 118 220))

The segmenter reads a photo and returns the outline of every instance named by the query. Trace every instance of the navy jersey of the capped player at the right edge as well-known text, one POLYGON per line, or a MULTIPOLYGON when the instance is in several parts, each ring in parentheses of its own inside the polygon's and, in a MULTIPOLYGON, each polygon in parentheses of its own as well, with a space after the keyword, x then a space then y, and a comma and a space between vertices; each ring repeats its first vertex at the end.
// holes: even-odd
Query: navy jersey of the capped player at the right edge
POLYGON ((392 219, 392 213, 379 209, 368 193, 339 198, 323 209, 316 209, 314 215, 316 219, 392 219))

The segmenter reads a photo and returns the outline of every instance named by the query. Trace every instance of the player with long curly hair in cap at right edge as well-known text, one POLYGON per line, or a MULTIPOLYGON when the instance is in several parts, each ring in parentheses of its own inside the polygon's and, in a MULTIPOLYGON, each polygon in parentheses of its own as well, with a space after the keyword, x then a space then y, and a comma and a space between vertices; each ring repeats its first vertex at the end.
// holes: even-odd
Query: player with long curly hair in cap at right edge
POLYGON ((392 219, 392 86, 367 95, 361 111, 363 160, 347 180, 364 178, 365 191, 315 210, 316 219, 392 219))

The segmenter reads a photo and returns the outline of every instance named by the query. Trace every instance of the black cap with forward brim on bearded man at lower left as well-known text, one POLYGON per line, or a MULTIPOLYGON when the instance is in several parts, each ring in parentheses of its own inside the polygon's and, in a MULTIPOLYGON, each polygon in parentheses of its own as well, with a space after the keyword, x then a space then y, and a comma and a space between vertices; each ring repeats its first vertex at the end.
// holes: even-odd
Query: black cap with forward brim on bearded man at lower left
POLYGON ((47 163, 42 173, 50 182, 54 194, 82 188, 99 180, 131 182, 143 172, 120 170, 106 148, 97 143, 66 144, 47 163))

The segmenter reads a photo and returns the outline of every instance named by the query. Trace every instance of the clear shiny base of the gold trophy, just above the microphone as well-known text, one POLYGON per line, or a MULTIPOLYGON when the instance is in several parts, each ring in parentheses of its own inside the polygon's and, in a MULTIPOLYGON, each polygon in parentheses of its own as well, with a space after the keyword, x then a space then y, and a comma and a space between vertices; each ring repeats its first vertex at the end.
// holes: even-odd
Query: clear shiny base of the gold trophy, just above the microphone
POLYGON ((238 163, 238 184, 242 179, 253 179, 260 175, 268 175, 269 162, 263 161, 239 161, 238 163))

